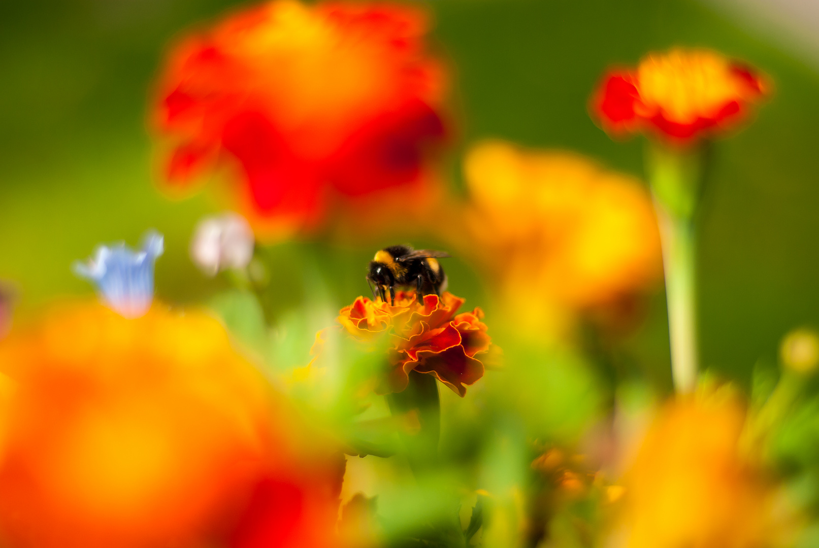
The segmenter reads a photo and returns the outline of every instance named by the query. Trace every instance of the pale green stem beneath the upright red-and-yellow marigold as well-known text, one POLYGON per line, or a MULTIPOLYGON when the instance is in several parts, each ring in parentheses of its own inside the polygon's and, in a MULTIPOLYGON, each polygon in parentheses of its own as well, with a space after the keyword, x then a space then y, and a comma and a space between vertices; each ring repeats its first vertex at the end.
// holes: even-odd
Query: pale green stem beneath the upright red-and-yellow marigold
POLYGON ((646 160, 663 245, 672 379, 677 392, 690 393, 698 369, 694 214, 701 150, 651 143, 646 160))

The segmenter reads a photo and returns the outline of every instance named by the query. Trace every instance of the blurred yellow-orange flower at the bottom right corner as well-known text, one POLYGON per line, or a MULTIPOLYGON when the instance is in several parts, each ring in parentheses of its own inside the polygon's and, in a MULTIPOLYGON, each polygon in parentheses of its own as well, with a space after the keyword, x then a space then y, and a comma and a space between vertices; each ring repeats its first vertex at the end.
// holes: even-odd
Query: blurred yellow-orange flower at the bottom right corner
POLYGON ((731 393, 667 403, 625 474, 611 546, 781 546, 785 513, 772 484, 740 451, 743 428, 744 407, 731 393))

